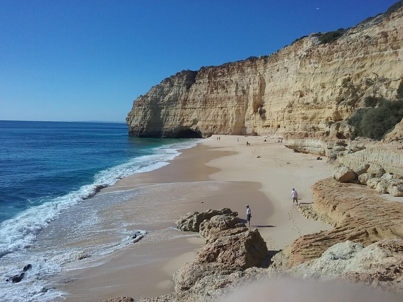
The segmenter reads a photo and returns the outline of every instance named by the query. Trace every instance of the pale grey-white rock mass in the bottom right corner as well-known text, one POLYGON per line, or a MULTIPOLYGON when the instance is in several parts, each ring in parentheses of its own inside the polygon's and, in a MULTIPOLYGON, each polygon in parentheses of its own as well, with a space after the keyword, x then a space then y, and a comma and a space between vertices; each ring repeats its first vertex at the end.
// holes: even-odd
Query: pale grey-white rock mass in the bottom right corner
POLYGON ((367 247, 347 240, 287 273, 321 280, 347 279, 403 292, 403 240, 384 239, 367 247))

